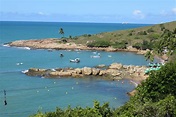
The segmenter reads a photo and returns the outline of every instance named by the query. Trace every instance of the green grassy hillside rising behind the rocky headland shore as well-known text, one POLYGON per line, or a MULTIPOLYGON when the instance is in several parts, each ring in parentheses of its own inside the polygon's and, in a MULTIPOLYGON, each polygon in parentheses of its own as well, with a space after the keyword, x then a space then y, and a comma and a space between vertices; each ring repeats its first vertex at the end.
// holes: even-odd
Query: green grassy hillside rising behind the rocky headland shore
POLYGON ((144 40, 151 42, 154 39, 159 39, 165 29, 173 31, 175 28, 176 21, 173 21, 129 30, 104 32, 95 35, 85 34, 79 37, 74 37, 72 41, 77 44, 87 44, 95 41, 108 41, 110 42, 110 46, 117 45, 119 43, 125 43, 126 46, 130 46, 136 43, 142 43, 144 40))

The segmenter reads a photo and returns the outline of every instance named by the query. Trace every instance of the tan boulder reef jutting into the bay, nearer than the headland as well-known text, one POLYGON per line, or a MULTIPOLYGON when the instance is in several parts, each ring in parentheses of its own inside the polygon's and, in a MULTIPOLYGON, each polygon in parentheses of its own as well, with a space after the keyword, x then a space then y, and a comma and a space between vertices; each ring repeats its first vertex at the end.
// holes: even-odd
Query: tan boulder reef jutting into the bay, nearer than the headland
MULTIPOLYGON (((102 66, 102 65, 101 65, 102 66)), ((144 76, 145 66, 122 65, 112 63, 106 69, 101 67, 90 68, 57 68, 57 69, 39 69, 30 68, 25 74, 29 76, 41 76, 46 78, 54 77, 83 77, 83 76, 105 76, 107 78, 137 78, 144 76)))

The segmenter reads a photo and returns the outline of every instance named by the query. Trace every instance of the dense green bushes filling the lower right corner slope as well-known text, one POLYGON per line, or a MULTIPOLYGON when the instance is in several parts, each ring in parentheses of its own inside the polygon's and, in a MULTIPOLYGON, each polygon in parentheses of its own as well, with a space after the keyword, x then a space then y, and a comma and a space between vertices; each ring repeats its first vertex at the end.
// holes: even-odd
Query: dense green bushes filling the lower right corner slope
POLYGON ((176 61, 151 72, 149 78, 137 87, 137 94, 115 113, 129 117, 176 116, 176 61))

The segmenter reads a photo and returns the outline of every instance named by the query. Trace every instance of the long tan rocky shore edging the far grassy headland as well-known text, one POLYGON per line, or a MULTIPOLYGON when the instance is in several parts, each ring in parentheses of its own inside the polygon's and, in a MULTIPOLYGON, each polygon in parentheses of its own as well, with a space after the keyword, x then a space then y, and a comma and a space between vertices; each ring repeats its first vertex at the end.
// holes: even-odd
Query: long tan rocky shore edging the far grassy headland
POLYGON ((63 43, 61 40, 56 38, 47 39, 32 39, 32 40, 18 40, 9 43, 5 43, 6 46, 11 47, 26 47, 28 49, 55 49, 55 50, 98 50, 107 52, 134 52, 136 54, 145 54, 147 50, 137 50, 132 46, 127 49, 115 49, 112 47, 100 48, 100 47, 87 47, 82 44, 75 44, 73 42, 63 43))

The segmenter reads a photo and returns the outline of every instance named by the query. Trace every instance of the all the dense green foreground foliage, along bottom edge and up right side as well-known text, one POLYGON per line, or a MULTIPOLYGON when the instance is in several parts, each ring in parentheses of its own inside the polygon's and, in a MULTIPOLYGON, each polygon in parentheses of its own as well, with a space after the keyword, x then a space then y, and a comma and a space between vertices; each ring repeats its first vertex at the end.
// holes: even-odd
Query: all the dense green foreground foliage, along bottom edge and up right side
POLYGON ((31 117, 174 117, 176 116, 176 60, 160 70, 151 72, 149 78, 137 88, 135 96, 123 106, 111 109, 95 101, 92 108, 70 106, 55 112, 38 112, 31 117))

